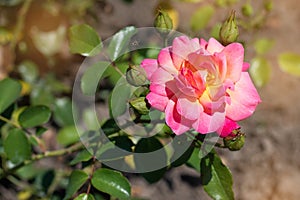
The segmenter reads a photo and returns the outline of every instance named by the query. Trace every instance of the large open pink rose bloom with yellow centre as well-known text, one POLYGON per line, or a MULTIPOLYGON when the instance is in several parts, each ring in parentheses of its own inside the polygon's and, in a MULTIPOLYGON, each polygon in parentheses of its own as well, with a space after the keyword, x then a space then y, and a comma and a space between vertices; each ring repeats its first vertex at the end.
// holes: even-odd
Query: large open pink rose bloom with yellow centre
POLYGON ((157 60, 144 59, 141 66, 150 80, 148 102, 165 112, 177 135, 194 128, 226 137, 261 102, 239 43, 224 47, 214 38, 206 42, 181 36, 157 60))

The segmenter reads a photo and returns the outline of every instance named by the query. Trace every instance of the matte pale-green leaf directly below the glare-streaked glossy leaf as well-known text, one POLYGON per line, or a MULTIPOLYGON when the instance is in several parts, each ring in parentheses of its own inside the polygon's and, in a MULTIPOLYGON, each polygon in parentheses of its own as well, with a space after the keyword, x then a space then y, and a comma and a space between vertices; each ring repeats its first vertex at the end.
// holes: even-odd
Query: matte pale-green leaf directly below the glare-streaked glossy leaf
POLYGON ((90 66, 81 78, 81 90, 85 95, 94 95, 102 74, 110 65, 108 62, 97 62, 90 66))

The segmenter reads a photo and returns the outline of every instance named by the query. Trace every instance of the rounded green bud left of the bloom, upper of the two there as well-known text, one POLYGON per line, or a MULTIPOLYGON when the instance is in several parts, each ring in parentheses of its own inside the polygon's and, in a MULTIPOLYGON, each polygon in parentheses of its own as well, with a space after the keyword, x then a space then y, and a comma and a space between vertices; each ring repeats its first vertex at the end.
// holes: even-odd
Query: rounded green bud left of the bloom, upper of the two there
POLYGON ((129 84, 136 87, 145 85, 147 81, 146 72, 140 66, 130 66, 126 72, 126 80, 129 84))

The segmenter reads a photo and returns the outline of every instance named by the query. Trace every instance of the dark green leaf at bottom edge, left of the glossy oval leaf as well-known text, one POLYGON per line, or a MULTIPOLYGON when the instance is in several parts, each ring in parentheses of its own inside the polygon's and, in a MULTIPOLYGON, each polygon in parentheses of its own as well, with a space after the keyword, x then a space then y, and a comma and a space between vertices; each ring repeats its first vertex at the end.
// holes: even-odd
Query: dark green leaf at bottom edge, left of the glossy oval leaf
POLYGON ((66 196, 64 199, 71 198, 77 190, 79 190, 83 184, 88 180, 89 175, 82 170, 74 170, 69 178, 67 186, 66 196))

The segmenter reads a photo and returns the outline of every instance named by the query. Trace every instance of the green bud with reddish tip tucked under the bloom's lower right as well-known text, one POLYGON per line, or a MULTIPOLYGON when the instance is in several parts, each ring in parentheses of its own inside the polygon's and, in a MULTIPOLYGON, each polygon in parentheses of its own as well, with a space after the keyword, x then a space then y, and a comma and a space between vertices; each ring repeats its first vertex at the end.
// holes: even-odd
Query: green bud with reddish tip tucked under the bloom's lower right
POLYGON ((236 129, 232 132, 232 135, 223 138, 224 146, 230 151, 240 150, 245 143, 245 133, 242 133, 240 129, 236 129))

